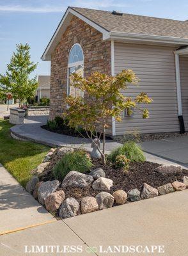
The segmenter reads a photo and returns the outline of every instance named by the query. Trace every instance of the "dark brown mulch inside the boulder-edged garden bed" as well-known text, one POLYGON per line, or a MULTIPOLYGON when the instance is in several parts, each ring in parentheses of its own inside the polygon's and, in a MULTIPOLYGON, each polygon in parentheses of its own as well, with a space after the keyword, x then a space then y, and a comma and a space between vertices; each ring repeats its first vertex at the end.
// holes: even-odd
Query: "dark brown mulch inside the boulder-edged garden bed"
MULTIPOLYGON (((51 164, 49 164, 43 176, 40 177, 41 180, 54 179, 51 170, 59 159, 61 159, 61 157, 54 154, 51 164)), ((93 159, 93 164, 93 168, 103 168, 106 173, 106 178, 113 180, 113 188, 109 191, 111 194, 118 189, 123 189, 128 192, 130 189, 137 188, 141 191, 143 183, 147 183, 153 188, 157 188, 168 182, 172 183, 175 180, 182 181, 182 177, 187 175, 186 170, 179 175, 162 175, 161 173, 155 172, 155 168, 160 166, 160 164, 150 162, 131 163, 128 172, 114 168, 111 163, 107 163, 106 166, 103 166, 102 162, 96 159, 93 159)), ((64 192, 65 198, 72 196, 78 201, 84 196, 96 196, 99 193, 99 191, 95 191, 92 188, 66 188, 64 189, 64 192)))

